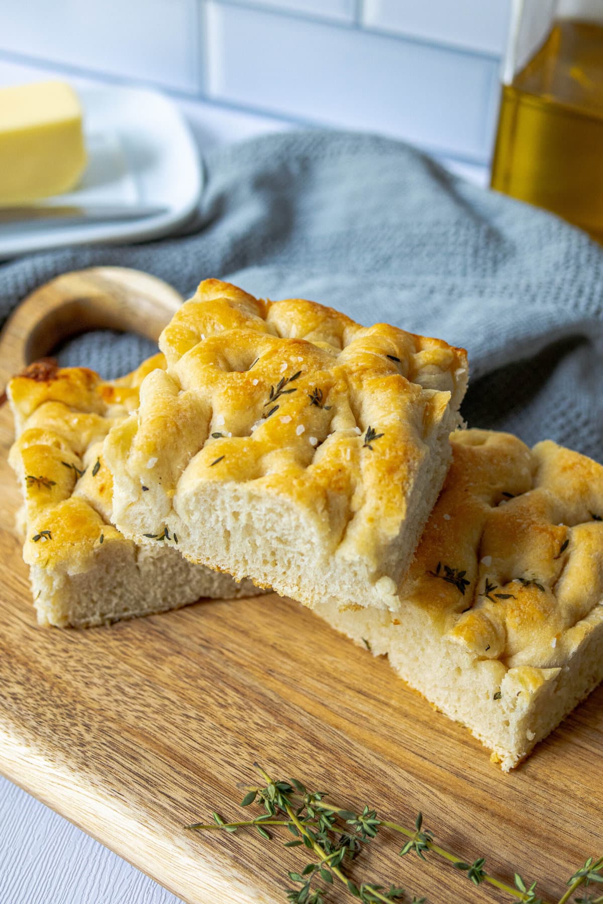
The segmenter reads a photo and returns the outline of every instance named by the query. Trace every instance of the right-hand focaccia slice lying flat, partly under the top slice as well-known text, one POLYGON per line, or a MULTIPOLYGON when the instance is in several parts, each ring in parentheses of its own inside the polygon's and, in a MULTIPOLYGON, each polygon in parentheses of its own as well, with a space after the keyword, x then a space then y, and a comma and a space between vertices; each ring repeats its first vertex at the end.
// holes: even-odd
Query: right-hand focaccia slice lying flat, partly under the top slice
POLYGON ((603 679, 603 467, 551 441, 451 439, 400 612, 316 612, 508 771, 603 679))

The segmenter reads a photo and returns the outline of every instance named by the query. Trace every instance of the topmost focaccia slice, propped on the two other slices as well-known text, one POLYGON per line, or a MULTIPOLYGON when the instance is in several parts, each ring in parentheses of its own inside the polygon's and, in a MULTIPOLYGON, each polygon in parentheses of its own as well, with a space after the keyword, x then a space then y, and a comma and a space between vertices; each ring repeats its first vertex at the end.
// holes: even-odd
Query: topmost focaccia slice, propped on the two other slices
POLYGON ((395 610, 446 476, 462 349, 205 280, 105 456, 119 529, 312 607, 395 610), (143 489, 146 487, 147 489, 143 489))

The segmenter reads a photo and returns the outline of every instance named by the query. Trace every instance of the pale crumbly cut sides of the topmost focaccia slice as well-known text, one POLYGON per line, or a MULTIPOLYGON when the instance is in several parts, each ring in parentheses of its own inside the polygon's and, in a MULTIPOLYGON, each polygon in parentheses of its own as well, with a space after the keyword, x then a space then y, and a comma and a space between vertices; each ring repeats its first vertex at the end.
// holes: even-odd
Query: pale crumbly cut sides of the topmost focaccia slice
MULTIPOLYGON (((450 432, 460 421, 457 411, 448 407, 408 499, 409 517, 383 552, 378 570, 371 570, 366 560, 346 556, 341 544, 335 551, 325 548, 324 533, 316 530, 312 517, 276 494, 258 493, 251 482, 202 482, 176 494, 161 523, 149 524, 153 489, 142 496, 127 475, 112 468, 118 490, 114 518, 119 530, 137 543, 154 542, 145 534, 166 528, 177 536, 177 548, 186 559, 228 571, 235 579, 250 576, 259 587, 310 608, 330 601, 395 611, 400 581, 448 473, 450 432)), ((110 466, 107 444, 105 457, 110 466)), ((153 517, 156 520, 155 512, 153 517)))

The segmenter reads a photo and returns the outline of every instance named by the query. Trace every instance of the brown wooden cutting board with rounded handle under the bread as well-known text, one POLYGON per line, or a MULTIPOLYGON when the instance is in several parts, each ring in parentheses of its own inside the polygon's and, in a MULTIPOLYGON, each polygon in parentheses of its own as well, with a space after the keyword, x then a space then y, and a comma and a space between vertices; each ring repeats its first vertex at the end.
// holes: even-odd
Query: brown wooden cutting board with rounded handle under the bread
MULTIPOLYGON (((0 376, 81 326, 156 336, 175 293, 131 271, 71 274, 39 290, 5 328, 0 376), (112 300, 111 300, 112 299, 112 300), (117 299, 117 300, 116 300, 117 299)), ((19 496, 0 410, 0 771, 190 904, 284 901, 306 862, 255 830, 191 833, 240 818, 236 783, 259 760, 275 777, 329 789, 411 825, 422 810, 440 843, 486 857, 498 878, 539 879, 547 899, 603 848, 603 687, 511 775, 466 730, 296 603, 269 595, 201 602, 87 631, 36 625, 19 496)), ((245 811, 249 812, 249 811, 245 811)), ((245 818, 245 817, 243 817, 245 818)), ((290 837, 287 835, 287 837, 290 837)), ((382 833, 358 880, 403 885, 432 904, 508 900, 429 856, 397 856, 382 833)), ((302 853, 300 854, 300 850, 302 853)), ((363 855, 363 858, 365 855, 363 855)), ((0 898, 1 898, 0 893, 0 898)), ((411 896, 410 896, 411 897, 411 896)), ((335 889, 334 902, 347 898, 335 889)))

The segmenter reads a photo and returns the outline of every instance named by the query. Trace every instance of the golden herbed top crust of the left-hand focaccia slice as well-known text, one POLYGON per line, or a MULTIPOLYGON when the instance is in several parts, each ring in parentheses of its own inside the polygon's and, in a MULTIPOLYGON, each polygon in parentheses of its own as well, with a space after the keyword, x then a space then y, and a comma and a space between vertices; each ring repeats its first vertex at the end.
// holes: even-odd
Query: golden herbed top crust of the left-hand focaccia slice
POLYGON ((81 569, 101 534, 103 542, 130 542, 108 523, 113 482, 101 460, 102 441, 136 409, 146 374, 163 366, 164 356, 156 354, 127 377, 106 382, 86 367, 35 363, 9 382, 17 434, 10 462, 24 490, 28 564, 81 569))

